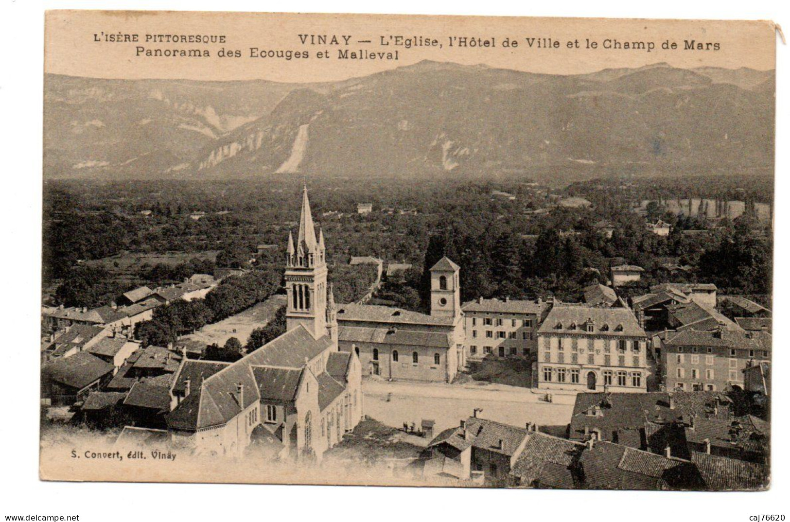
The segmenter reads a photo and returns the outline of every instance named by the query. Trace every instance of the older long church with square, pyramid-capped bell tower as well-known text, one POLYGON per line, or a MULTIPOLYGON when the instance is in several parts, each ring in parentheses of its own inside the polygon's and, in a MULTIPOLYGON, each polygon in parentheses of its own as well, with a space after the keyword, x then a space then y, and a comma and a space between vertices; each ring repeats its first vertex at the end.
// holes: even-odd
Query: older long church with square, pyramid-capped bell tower
POLYGON ((431 267, 431 314, 391 306, 338 306, 340 350, 354 351, 366 374, 452 381, 466 364, 460 270, 447 257, 431 267))

